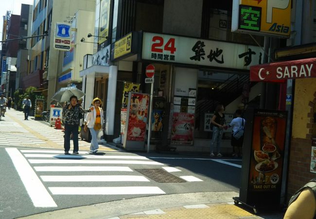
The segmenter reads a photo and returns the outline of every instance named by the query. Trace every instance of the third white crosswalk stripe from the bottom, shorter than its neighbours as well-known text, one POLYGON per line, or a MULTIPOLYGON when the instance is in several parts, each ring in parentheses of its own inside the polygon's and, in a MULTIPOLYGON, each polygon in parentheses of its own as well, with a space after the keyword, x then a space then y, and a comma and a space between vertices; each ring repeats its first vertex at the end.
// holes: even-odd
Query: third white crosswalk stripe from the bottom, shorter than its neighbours
POLYGON ((68 172, 68 171, 125 171, 133 172, 127 166, 34 166, 37 172, 68 172))

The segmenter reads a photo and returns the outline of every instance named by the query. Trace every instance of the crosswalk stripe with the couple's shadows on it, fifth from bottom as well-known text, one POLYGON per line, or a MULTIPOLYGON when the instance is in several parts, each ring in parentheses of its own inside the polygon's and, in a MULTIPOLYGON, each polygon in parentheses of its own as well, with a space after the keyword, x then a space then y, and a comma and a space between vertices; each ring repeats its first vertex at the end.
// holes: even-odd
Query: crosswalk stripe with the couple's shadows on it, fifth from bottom
POLYGON ((25 157, 42 157, 42 158, 97 158, 97 159, 135 159, 149 160, 141 156, 99 156, 99 155, 64 155, 64 154, 24 154, 25 157))

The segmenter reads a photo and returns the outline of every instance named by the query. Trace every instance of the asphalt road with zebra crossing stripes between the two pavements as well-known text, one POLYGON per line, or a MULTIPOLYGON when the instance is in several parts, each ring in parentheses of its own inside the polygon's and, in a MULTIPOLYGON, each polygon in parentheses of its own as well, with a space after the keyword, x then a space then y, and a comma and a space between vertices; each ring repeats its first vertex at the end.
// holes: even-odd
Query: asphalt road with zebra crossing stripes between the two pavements
POLYGON ((62 150, 1 146, 0 218, 145 196, 239 192, 240 165, 238 159, 84 151, 67 156, 62 150), (158 183, 136 169, 163 169, 184 182, 158 183))

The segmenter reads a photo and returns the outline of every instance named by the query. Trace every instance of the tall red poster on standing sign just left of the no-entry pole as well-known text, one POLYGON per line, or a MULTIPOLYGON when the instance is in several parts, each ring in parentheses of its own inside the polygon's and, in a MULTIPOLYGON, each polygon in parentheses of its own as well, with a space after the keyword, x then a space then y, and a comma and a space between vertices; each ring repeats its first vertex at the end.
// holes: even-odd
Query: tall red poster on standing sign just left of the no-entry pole
POLYGON ((126 140, 144 141, 148 104, 148 94, 131 93, 126 140))

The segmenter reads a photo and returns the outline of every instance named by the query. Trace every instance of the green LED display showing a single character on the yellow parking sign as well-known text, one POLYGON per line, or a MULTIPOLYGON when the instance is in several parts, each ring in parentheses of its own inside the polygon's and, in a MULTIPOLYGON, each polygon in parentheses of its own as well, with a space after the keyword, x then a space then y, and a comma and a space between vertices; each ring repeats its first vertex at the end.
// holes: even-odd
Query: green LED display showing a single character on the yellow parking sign
POLYGON ((238 29, 247 31, 260 31, 261 7, 239 5, 238 29))

